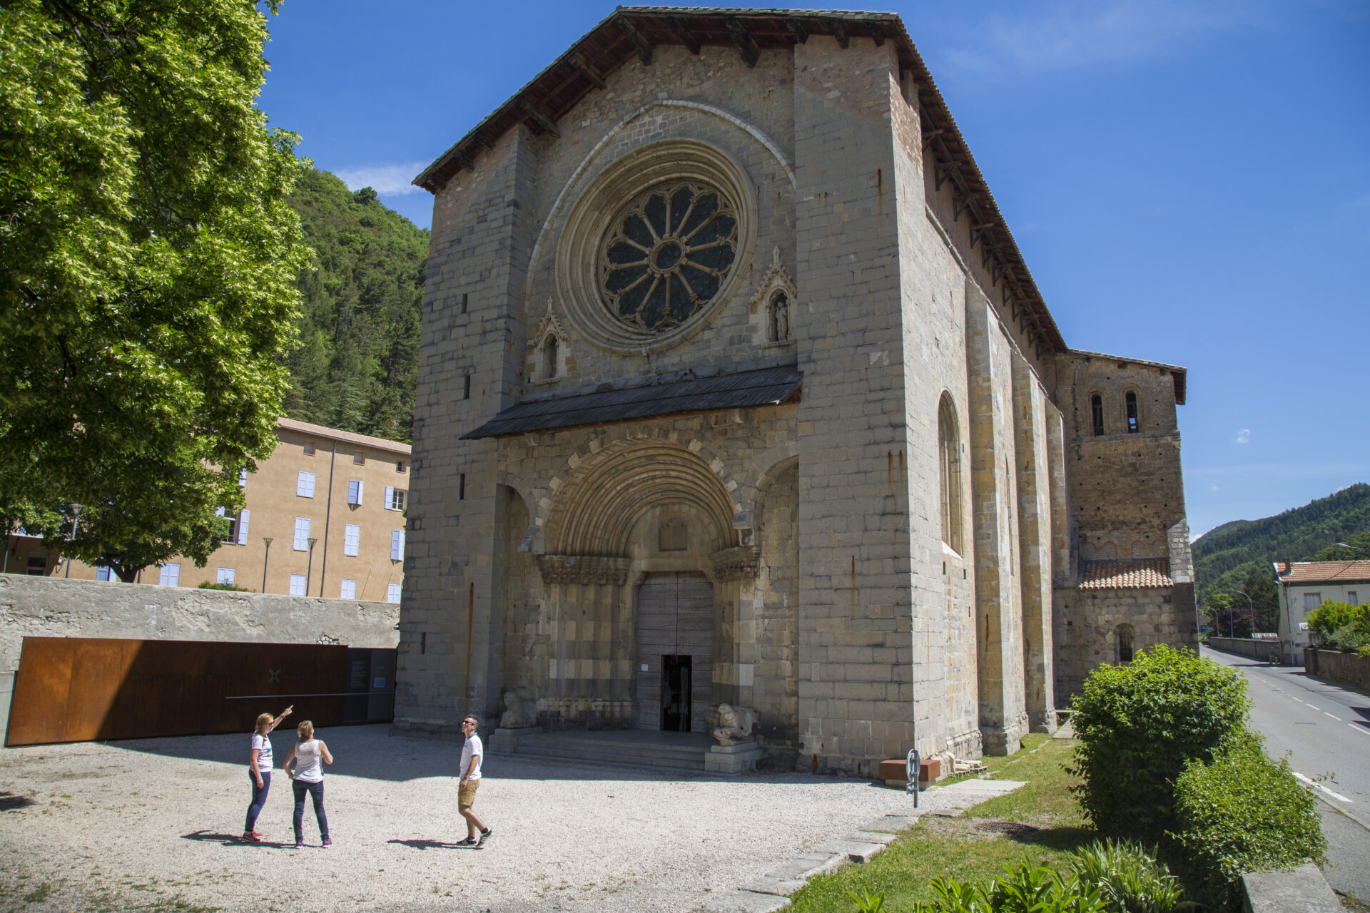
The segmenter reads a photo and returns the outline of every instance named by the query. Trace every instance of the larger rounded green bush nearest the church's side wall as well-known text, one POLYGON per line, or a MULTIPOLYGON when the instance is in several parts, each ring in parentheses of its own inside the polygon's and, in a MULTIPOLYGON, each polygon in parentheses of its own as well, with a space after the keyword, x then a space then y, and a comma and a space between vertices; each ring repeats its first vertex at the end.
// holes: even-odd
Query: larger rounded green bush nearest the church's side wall
POLYGON ((1071 702, 1069 772, 1085 816, 1104 836, 1159 842, 1171 827, 1175 777, 1211 762, 1245 731, 1247 686, 1234 669, 1164 645, 1128 665, 1101 665, 1071 702))

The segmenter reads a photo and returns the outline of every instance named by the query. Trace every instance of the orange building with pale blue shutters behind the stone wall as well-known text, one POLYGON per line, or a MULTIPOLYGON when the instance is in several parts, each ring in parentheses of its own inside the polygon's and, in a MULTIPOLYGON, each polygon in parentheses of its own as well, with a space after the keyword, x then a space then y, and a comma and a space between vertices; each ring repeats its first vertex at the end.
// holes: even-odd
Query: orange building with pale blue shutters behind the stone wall
MULTIPOLYGON (((245 506, 229 517, 229 537, 208 563, 171 558, 144 568, 138 582, 399 602, 410 445, 293 419, 281 419, 278 433, 271 457, 240 479, 245 506)), ((36 557, 18 552, 37 568, 36 557)), ((42 572, 118 582, 108 568, 82 561, 71 561, 70 572, 47 561, 42 572)))

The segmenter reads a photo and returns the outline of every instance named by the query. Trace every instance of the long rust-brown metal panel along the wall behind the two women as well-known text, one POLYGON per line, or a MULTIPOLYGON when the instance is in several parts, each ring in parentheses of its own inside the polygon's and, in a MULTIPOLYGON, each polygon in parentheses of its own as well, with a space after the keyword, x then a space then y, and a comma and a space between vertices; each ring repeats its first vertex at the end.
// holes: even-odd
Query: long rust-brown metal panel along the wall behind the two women
POLYGON ((337 645, 25 638, 5 745, 248 732, 290 704, 293 720, 338 725, 347 657, 337 645))

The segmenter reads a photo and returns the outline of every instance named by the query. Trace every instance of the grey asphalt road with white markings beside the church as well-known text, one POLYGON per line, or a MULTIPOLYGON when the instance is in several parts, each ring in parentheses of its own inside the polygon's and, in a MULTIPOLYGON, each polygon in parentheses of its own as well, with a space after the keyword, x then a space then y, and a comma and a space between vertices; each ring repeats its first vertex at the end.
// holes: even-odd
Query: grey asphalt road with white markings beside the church
POLYGON ((1333 888, 1370 902, 1370 694, 1306 673, 1203 647, 1237 668, 1251 694, 1251 727, 1271 757, 1289 765, 1319 799, 1328 838, 1323 875, 1333 888))

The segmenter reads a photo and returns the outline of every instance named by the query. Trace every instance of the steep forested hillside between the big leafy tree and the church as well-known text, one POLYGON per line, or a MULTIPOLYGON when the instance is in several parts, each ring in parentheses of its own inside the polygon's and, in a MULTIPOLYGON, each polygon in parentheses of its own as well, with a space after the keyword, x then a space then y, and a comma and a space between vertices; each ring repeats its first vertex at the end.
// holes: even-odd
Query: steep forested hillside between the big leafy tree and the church
POLYGON ((429 230, 326 171, 301 178, 292 205, 314 257, 297 279, 304 303, 285 415, 408 441, 429 230))

